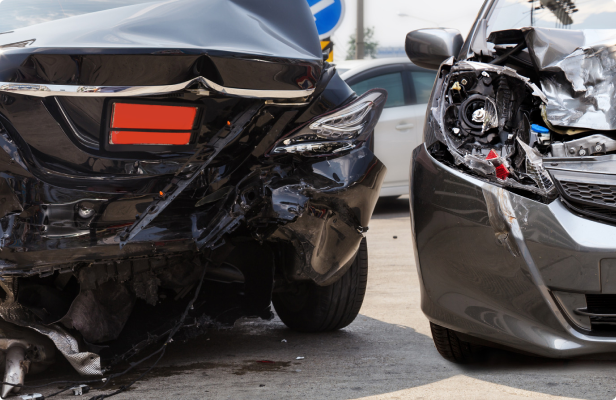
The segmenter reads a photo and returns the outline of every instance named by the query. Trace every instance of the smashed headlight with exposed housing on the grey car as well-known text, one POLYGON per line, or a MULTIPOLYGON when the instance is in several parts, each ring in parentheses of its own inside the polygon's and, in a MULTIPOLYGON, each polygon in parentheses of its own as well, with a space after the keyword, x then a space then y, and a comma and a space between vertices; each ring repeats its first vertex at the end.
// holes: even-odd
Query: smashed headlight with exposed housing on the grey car
POLYGON ((434 145, 431 137, 446 145, 448 158, 468 173, 553 198, 556 188, 543 166, 551 156, 545 103, 543 92, 511 68, 459 62, 431 109, 426 144, 434 145))

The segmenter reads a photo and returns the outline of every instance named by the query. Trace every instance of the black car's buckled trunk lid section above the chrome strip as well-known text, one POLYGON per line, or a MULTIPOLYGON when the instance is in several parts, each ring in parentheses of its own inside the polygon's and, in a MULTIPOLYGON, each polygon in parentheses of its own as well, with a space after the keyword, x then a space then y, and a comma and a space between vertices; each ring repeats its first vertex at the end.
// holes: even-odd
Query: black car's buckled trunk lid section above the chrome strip
POLYGON ((323 70, 305 0, 169 0, 0 35, 0 82, 314 88, 323 70))

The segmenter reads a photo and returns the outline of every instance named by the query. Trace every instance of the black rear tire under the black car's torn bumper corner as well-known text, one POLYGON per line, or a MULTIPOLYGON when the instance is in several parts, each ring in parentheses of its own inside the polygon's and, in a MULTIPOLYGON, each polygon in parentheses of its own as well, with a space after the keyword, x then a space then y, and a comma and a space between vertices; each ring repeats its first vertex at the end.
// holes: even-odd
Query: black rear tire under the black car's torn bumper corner
POLYGON ((362 239, 355 261, 330 286, 303 282, 294 293, 272 295, 276 313, 299 332, 329 332, 348 326, 359 314, 368 283, 368 245, 362 239))

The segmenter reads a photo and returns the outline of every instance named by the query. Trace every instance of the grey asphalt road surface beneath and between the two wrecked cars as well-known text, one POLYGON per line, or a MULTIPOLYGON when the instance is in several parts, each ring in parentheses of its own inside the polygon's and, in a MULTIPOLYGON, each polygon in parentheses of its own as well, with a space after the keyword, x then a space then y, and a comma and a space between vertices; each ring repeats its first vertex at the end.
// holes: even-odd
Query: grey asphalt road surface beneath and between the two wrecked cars
MULTIPOLYGON (((333 333, 302 334, 273 321, 172 343, 127 399, 608 399, 616 356, 551 360, 490 351, 472 366, 445 361, 420 310, 408 197, 382 200, 367 233, 370 270, 360 315, 333 333), (264 362, 265 361, 265 362, 264 362)), ((113 388, 139 375, 139 367, 113 388)), ((66 364, 30 384, 79 379, 66 364)), ((52 393, 56 388, 41 391, 52 393)), ((92 391, 84 396, 111 393, 92 391)), ((57 398, 67 398, 60 395, 57 398)), ((71 396, 72 398, 75 398, 71 396)))

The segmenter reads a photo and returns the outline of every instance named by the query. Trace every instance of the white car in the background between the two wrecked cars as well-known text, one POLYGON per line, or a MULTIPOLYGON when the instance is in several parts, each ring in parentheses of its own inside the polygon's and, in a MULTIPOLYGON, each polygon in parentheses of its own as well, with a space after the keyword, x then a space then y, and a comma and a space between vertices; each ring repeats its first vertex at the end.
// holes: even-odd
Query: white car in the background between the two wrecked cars
POLYGON ((387 90, 387 103, 374 131, 374 154, 387 167, 380 196, 408 194, 411 154, 422 142, 436 71, 402 57, 342 61, 336 69, 359 96, 374 88, 387 90))

